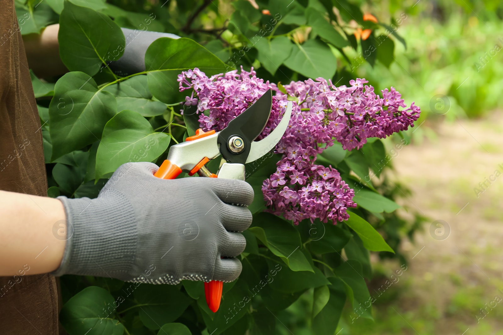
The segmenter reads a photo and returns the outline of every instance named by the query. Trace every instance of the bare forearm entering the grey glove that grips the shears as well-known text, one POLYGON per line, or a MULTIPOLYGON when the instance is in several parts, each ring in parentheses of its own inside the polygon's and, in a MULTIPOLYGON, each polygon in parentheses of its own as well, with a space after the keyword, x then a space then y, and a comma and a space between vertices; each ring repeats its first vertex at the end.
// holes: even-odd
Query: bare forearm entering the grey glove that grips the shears
POLYGON ((0 276, 56 270, 66 243, 61 201, 0 191, 0 204, 0 276))

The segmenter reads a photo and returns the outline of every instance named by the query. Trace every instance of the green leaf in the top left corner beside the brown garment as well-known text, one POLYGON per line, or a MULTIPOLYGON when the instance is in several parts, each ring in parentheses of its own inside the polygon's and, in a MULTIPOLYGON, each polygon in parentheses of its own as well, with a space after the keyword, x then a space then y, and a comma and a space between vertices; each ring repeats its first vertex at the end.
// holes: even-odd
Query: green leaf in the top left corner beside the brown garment
POLYGON ((39 34, 43 28, 58 22, 57 14, 47 4, 39 1, 29 0, 24 6, 16 3, 16 15, 21 35, 39 34))

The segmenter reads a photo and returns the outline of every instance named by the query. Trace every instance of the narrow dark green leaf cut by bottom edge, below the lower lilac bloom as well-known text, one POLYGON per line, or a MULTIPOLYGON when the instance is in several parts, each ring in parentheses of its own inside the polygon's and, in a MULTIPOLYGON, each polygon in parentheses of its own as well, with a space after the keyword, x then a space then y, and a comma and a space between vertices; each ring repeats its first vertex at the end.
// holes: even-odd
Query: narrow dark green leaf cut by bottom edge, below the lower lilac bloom
POLYGON ((333 335, 346 303, 345 285, 341 279, 330 277, 329 299, 323 309, 312 321, 312 333, 316 335, 333 335))

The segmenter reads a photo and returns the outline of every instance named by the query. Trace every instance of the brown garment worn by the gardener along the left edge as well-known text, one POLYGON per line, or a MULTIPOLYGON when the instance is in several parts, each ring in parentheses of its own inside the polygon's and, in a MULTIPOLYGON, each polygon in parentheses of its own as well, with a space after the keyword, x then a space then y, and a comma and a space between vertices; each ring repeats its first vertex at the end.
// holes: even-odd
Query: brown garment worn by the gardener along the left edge
MULTIPOLYGON (((46 196, 40 119, 14 2, 0 0, 0 8, 0 189, 46 196)), ((57 291, 48 274, 0 277, 0 333, 57 335, 57 291)))

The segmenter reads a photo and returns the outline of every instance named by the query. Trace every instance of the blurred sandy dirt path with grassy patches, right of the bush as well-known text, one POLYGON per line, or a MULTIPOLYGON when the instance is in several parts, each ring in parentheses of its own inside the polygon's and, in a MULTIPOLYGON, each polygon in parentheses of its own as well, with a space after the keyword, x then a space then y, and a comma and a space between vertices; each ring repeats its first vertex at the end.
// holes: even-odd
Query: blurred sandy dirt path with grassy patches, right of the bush
POLYGON ((405 245, 409 269, 393 288, 400 293, 376 305, 377 329, 368 333, 503 334, 501 116, 443 123, 393 160, 393 178, 413 192, 402 204, 431 220, 405 245), (447 238, 447 225, 444 236, 430 234, 435 220, 447 222, 447 238))

